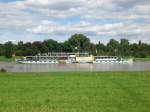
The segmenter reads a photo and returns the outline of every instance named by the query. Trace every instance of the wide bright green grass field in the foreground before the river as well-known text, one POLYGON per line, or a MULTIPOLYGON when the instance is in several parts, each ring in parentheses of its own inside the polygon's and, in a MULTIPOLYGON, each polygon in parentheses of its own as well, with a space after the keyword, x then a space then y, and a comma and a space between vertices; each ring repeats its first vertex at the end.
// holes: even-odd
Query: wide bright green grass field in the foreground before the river
POLYGON ((0 112, 150 112, 150 72, 0 73, 0 112))

